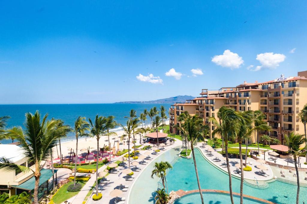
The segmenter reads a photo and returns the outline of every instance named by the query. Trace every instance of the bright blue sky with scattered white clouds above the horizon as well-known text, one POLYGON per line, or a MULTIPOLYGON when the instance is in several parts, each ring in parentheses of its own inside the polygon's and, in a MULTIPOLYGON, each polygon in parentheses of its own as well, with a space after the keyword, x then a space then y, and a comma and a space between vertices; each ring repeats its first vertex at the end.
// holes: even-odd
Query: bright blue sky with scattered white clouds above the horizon
POLYGON ((0 104, 198 96, 202 88, 296 76, 307 69, 306 6, 2 1, 0 104))

